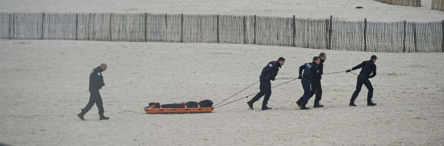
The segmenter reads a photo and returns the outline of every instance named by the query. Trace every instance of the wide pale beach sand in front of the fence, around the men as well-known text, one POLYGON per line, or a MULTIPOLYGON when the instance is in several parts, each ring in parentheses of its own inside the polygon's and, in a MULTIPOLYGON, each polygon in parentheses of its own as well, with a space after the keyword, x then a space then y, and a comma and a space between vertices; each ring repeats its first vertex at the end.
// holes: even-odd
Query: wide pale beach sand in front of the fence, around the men
MULTIPOLYGON (((13 145, 443 145, 443 53, 372 53, 296 47, 98 41, 0 41, 0 141, 13 145), (375 107, 366 106, 352 74, 325 75, 324 108, 299 110, 300 81, 273 89, 269 107, 247 100, 213 113, 150 115, 149 102, 210 99, 215 103, 258 80, 268 61, 287 61, 278 78, 320 52, 324 71, 335 72, 376 54, 371 79, 375 107), (100 62, 108 121, 94 106, 76 117, 89 99, 89 71, 100 62)), ((358 70, 359 71, 359 70, 358 70)), ((355 71, 356 72, 356 71, 355 71)), ((285 82, 276 80, 272 85, 285 82)), ((258 91, 253 86, 232 99, 258 91)), ((308 103, 312 107, 313 100, 308 103)))

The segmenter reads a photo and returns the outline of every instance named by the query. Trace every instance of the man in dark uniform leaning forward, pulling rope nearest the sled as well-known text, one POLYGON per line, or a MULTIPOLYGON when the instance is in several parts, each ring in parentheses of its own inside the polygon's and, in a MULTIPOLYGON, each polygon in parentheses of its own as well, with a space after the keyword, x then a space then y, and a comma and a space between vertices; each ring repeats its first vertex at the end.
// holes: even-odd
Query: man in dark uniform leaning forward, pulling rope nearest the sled
POLYGON ((278 75, 279 68, 282 67, 285 63, 284 57, 279 57, 277 61, 271 61, 269 62, 260 73, 259 76, 259 89, 260 92, 256 94, 250 101, 247 102, 248 106, 253 109, 253 103, 258 101, 262 96, 265 95, 263 101, 262 101, 262 110, 268 110, 271 109, 267 107, 268 99, 270 99, 271 96, 271 81, 274 81, 274 78, 278 75))

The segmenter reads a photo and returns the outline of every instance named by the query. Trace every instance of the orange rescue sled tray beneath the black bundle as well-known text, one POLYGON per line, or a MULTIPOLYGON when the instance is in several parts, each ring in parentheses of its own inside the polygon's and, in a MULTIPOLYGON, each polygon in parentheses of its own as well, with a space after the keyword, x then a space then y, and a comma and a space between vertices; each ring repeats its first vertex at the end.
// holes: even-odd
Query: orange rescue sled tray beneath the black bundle
POLYGON ((147 114, 173 114, 173 113, 210 113, 213 111, 214 107, 200 107, 197 108, 153 108, 154 105, 144 108, 147 114))

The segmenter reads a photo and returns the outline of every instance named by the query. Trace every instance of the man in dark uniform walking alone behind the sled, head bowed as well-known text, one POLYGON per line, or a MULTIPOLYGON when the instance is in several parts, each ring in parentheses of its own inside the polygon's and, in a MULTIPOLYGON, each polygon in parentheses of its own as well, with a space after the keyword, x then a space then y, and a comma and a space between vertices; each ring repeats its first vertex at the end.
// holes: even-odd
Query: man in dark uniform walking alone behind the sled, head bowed
POLYGON ((99 90, 105 86, 105 83, 103 82, 103 75, 102 72, 105 71, 107 68, 107 65, 105 63, 101 63, 100 66, 97 68, 94 68, 91 70, 91 74, 89 75, 89 102, 86 104, 85 108, 82 109, 82 112, 80 112, 77 116, 81 120, 85 120, 83 116, 91 109, 91 107, 94 105, 97 106, 99 110, 99 120, 107 120, 109 117, 105 117, 103 115, 103 103, 102 103, 102 97, 100 96, 99 90))

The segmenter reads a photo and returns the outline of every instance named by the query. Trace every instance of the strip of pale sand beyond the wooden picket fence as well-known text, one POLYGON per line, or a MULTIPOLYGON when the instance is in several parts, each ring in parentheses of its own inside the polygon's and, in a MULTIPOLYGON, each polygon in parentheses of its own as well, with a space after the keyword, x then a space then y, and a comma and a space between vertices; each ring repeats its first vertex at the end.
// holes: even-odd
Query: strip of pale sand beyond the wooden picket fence
POLYGON ((0 0, 0 12, 116 12, 169 14, 231 14, 330 18, 339 20, 441 21, 444 11, 431 10, 432 0, 421 7, 406 7, 372 0, 0 0), (363 9, 356 9, 361 6, 363 9))

